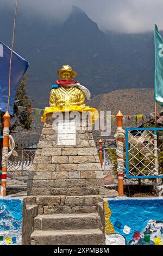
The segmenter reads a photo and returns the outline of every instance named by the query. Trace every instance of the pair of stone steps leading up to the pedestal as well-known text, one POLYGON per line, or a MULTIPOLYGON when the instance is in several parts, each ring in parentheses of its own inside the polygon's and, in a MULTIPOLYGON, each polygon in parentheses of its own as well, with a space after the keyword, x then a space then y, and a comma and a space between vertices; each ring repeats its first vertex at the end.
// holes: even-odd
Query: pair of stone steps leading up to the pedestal
POLYGON ((37 215, 31 245, 103 245, 101 217, 91 214, 37 215))

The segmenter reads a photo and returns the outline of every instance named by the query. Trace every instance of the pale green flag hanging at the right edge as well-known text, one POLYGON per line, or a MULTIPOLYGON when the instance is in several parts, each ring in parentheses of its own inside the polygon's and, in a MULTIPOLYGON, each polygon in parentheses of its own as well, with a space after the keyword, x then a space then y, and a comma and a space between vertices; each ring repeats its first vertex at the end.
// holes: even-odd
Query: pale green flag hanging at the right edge
POLYGON ((154 27, 155 45, 155 75, 154 75, 154 99, 163 107, 163 39, 158 27, 154 27))

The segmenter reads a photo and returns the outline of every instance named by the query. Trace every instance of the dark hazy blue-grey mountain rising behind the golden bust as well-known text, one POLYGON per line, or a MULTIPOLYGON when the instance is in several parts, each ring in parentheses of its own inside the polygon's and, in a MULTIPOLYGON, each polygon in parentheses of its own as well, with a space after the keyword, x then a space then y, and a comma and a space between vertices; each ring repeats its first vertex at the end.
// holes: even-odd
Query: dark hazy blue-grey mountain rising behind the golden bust
MULTIPOLYGON (((0 10, 0 40, 8 46, 13 16, 10 9, 0 10)), ((78 72, 76 80, 92 96, 154 86, 153 33, 104 33, 78 7, 73 7, 63 23, 46 21, 32 11, 30 16, 19 12, 14 50, 30 64, 27 90, 35 107, 48 106, 57 70, 67 64, 78 72)))

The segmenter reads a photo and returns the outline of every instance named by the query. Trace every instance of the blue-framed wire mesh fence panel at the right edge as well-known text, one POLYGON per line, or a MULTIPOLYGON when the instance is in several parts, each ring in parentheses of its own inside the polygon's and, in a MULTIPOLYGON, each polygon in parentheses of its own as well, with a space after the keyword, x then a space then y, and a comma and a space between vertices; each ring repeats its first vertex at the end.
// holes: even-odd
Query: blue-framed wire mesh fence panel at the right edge
POLYGON ((127 178, 163 178, 163 128, 126 128, 127 178))

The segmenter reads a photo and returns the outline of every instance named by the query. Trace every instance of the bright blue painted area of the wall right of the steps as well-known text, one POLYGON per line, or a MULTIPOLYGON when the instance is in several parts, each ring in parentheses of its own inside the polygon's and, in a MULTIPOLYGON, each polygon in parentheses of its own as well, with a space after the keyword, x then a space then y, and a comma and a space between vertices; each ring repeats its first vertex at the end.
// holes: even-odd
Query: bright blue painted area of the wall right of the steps
MULTIPOLYGON (((108 200, 112 215, 111 223, 116 233, 126 237, 127 242, 133 239, 135 231, 146 228, 149 220, 163 221, 163 200, 108 200), (129 234, 123 232, 124 225, 131 228, 129 234)), ((163 225, 163 224, 162 224, 163 225)))

